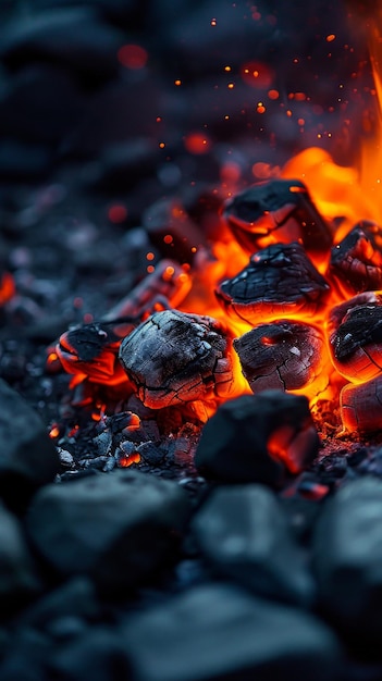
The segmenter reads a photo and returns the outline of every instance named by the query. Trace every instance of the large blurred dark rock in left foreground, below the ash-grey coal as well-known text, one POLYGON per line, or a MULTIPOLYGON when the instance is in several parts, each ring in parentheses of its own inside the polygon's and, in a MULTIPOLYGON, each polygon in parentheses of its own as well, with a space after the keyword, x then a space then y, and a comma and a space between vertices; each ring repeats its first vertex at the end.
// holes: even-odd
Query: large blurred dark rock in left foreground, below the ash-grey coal
POLYGON ((27 529, 59 574, 89 573, 100 589, 121 592, 174 559, 188 510, 175 483, 119 470, 46 486, 27 529))

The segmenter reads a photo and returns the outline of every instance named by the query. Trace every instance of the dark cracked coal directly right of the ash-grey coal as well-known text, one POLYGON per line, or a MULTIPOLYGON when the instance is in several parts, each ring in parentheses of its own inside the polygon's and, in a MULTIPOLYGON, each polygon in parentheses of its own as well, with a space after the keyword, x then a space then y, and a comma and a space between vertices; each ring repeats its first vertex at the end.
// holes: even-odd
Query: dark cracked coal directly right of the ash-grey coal
POLYGON ((233 346, 252 393, 298 391, 317 383, 324 369, 324 337, 301 322, 259 324, 235 338, 233 346))

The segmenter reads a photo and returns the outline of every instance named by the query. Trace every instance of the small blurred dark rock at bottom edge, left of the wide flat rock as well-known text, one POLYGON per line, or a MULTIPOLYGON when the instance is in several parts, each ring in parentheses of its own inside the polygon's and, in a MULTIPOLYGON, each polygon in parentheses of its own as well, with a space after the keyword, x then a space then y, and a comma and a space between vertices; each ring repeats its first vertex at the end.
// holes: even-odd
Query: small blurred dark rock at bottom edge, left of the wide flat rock
POLYGON ((97 627, 62 646, 53 656, 51 668, 57 678, 65 681, 131 679, 124 644, 107 627, 97 627))

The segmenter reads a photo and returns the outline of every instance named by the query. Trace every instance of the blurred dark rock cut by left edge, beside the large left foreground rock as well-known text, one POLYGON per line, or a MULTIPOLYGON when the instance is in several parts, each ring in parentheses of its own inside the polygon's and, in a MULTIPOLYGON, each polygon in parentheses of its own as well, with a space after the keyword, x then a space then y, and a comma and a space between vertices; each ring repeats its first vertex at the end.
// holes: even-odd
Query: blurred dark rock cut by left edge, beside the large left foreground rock
POLYGON ((39 583, 19 520, 0 505, 0 600, 2 611, 19 607, 39 583))

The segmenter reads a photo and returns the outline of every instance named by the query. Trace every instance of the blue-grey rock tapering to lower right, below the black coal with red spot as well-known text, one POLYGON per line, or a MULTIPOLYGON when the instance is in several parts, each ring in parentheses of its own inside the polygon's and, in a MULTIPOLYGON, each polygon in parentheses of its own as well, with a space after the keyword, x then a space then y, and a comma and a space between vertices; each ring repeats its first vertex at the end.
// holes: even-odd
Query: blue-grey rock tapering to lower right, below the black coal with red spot
POLYGON ((311 604, 313 580, 282 506, 267 487, 218 487, 195 516, 193 528, 218 573, 259 596, 311 604))

